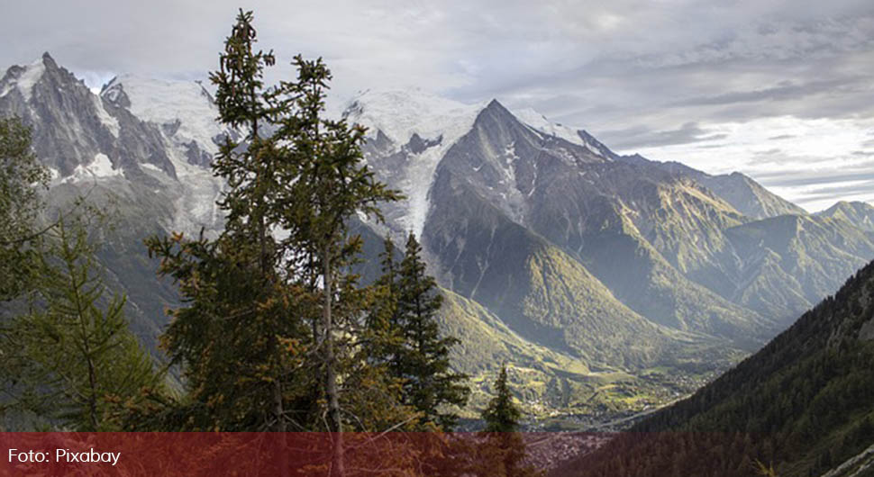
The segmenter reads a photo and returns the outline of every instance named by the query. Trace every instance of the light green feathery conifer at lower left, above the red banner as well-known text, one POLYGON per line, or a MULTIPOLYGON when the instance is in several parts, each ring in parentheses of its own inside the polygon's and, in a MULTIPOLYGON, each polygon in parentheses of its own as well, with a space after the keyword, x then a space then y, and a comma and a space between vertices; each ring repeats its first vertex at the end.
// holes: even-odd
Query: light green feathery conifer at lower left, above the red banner
POLYGON ((59 428, 114 430, 124 406, 163 385, 128 329, 124 297, 106 296, 89 238, 92 218, 74 216, 45 230, 32 311, 10 320, 0 335, 0 411, 59 428))

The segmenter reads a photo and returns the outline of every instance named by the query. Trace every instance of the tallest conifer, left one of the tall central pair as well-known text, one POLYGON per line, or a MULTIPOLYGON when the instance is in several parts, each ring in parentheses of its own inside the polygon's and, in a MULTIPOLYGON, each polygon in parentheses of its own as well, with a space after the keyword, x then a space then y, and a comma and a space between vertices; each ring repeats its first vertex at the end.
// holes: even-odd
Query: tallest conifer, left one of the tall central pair
POLYGON ((181 428, 307 430, 319 399, 317 380, 304 369, 312 348, 305 325, 317 312, 312 291, 297 286, 294 270, 282 270, 287 250, 270 233, 280 221, 275 198, 289 185, 282 179, 296 164, 278 144, 288 139, 266 132, 292 113, 292 85, 263 85, 275 58, 255 49, 252 19, 237 16, 211 74, 219 120, 243 133, 226 137, 213 163, 227 181, 218 202, 225 229, 212 240, 147 241, 186 305, 171 311, 162 337, 190 390, 185 409, 169 413, 185 416, 181 428))

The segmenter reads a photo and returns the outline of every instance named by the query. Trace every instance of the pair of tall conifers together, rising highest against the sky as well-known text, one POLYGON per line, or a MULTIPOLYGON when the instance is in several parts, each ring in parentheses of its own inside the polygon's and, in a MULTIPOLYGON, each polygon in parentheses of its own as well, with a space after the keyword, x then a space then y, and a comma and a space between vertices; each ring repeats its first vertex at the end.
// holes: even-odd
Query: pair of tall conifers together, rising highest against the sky
MULTIPOLYGON (((321 58, 297 56, 296 79, 267 87, 275 58, 256 39, 241 11, 211 76, 220 120, 245 132, 225 138, 214 160, 228 184, 223 233, 148 240, 185 300, 163 342, 187 393, 154 396, 132 427, 402 428, 414 414, 399 383, 369 363, 387 329, 364 326, 385 316, 386 297, 351 274, 361 244, 347 225, 359 213, 381 220, 378 202, 398 195, 361 163, 364 130, 323 119, 331 74, 321 58)), ((336 436, 332 472, 341 473, 336 436)))

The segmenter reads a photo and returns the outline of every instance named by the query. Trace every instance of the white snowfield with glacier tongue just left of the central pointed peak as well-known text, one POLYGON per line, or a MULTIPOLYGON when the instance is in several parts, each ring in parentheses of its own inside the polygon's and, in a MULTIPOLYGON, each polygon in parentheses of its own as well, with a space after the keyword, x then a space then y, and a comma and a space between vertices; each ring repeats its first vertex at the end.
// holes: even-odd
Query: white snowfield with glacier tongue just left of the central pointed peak
POLYGON ((377 131, 391 139, 396 150, 413 134, 424 140, 440 139, 440 144, 411 155, 404 179, 396 184, 406 196, 401 226, 422 235, 430 209, 428 191, 434 172, 446 151, 473 128, 487 103, 465 104, 420 90, 366 91, 347 103, 343 113, 350 122, 369 128, 368 137, 377 131))

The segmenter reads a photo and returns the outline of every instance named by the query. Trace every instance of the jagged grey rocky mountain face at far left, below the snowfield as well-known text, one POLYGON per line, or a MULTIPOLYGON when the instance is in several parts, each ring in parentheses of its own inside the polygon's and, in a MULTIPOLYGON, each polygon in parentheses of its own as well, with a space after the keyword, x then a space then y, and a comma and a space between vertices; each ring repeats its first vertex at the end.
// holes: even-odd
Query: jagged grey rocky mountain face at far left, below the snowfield
POLYGON ((109 283, 129 295, 133 329, 154 347, 167 320, 164 307, 177 297, 155 278, 142 239, 174 229, 215 229, 222 184, 207 168, 188 164, 186 149, 164 124, 135 115, 129 103, 120 95, 93 94, 48 53, 10 67, 0 79, 0 114, 32 128, 33 148, 50 168, 50 208, 64 211, 86 195, 117 212, 117 233, 100 258, 109 283))

